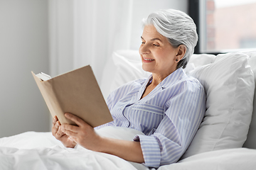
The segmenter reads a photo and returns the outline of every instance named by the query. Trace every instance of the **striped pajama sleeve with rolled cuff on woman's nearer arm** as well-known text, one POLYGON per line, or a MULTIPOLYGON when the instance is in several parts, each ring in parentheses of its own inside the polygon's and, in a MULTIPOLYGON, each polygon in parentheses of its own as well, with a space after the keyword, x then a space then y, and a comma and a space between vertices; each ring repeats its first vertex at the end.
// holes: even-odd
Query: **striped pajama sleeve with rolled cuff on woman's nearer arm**
MULTIPOLYGON (((166 91, 167 92, 167 91, 166 91)), ((170 91, 169 91, 170 92, 170 91)), ((151 135, 137 135, 144 164, 159 167, 177 162, 193 140, 206 111, 206 96, 200 83, 183 81, 171 91, 164 118, 151 135)))

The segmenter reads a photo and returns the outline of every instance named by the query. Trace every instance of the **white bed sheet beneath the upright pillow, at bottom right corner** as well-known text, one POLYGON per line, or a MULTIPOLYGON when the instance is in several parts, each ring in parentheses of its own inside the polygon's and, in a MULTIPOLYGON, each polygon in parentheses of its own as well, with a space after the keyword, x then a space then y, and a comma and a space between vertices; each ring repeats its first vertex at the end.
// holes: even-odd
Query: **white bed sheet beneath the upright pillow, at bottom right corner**
POLYGON ((256 169, 256 149, 236 148, 196 154, 159 170, 253 170, 256 169))

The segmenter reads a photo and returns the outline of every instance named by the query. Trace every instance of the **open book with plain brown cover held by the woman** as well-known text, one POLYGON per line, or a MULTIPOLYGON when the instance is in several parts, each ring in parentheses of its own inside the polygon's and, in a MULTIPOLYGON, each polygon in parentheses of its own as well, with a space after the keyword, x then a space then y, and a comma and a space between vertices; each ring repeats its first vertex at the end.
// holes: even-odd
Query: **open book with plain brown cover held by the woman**
POLYGON ((77 115, 92 127, 112 121, 90 65, 53 78, 44 73, 32 74, 51 115, 57 115, 61 124, 75 125, 65 118, 65 113, 77 115))

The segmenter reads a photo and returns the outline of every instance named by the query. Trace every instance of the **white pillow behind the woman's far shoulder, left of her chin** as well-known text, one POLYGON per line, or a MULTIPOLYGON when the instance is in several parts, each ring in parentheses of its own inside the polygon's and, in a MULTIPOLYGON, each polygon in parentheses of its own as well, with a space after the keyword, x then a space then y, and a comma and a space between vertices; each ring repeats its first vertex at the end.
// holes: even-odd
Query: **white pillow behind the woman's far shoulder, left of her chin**
POLYGON ((129 81, 147 77, 142 69, 138 50, 117 50, 109 57, 102 72, 100 89, 105 99, 117 87, 129 81))

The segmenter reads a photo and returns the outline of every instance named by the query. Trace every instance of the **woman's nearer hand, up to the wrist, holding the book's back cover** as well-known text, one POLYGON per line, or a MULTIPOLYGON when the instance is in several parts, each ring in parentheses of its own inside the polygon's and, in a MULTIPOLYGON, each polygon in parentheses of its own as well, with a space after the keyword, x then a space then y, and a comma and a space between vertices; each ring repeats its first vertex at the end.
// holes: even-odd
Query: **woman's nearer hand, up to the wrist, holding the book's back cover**
POLYGON ((97 135, 92 126, 71 113, 65 113, 65 117, 75 122, 78 126, 63 124, 61 125, 62 132, 72 137, 72 139, 82 147, 93 151, 100 151, 99 147, 100 142, 102 142, 102 137, 97 135))

